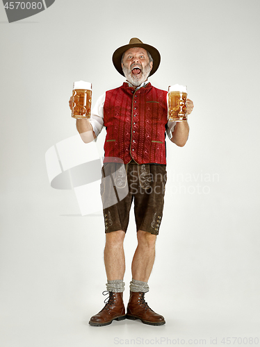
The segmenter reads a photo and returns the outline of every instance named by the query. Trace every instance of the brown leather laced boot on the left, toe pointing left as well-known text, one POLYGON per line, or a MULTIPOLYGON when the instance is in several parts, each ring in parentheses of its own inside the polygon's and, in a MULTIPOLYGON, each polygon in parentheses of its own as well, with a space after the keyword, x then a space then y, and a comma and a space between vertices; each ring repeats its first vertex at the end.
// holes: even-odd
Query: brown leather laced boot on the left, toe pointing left
POLYGON ((103 295, 109 293, 109 297, 106 298, 104 303, 106 305, 102 310, 90 318, 89 324, 95 326, 103 326, 111 324, 113 320, 122 321, 126 319, 123 293, 113 293, 113 291, 103 291, 103 295))

